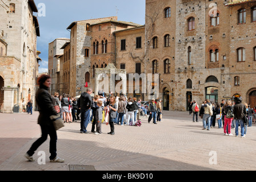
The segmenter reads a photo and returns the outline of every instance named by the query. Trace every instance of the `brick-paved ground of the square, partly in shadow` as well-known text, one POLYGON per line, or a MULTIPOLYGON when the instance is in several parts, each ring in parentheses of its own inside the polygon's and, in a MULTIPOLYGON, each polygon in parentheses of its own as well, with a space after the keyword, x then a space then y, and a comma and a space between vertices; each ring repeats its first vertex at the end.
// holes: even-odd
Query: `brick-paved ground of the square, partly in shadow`
POLYGON ((35 162, 28 162, 23 155, 41 136, 37 117, 38 112, 0 114, 1 171, 69 171, 69 164, 94 166, 97 171, 256 168, 254 124, 247 127, 246 138, 225 136, 217 123, 209 131, 202 130, 202 119, 192 122, 192 115, 178 111, 163 111, 157 125, 147 118, 142 118, 140 127, 115 125, 115 135, 107 134, 110 126, 104 123, 102 135, 79 133, 79 121, 65 123, 57 131, 57 152, 65 163, 49 162, 49 138, 35 152, 35 162), (38 163, 39 151, 46 153, 45 164, 38 163))

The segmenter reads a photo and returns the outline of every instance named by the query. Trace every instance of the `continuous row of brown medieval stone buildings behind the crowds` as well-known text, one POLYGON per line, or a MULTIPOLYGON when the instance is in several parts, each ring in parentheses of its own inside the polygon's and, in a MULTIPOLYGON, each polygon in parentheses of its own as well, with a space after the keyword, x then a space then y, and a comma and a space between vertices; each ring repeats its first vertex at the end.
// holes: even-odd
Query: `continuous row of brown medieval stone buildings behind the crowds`
MULTIPOLYGON (((158 75, 151 86, 165 110, 237 96, 256 105, 256 1, 146 0, 144 26, 113 16, 67 29, 73 96, 85 91, 86 82, 94 89, 95 70, 112 63, 127 74, 158 75)), ((139 92, 128 96, 149 100, 142 81, 136 84, 139 92)))

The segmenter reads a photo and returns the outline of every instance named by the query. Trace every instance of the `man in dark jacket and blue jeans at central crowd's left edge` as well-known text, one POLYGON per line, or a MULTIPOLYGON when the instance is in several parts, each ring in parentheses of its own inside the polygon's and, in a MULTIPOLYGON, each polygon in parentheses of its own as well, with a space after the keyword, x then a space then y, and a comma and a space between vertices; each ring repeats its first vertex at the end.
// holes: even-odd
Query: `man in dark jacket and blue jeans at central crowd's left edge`
POLYGON ((80 110, 81 110, 81 129, 80 133, 89 133, 86 130, 86 127, 90 121, 90 108, 93 101, 91 100, 90 94, 93 92, 91 88, 87 88, 86 92, 82 93, 79 101, 80 101, 80 110))

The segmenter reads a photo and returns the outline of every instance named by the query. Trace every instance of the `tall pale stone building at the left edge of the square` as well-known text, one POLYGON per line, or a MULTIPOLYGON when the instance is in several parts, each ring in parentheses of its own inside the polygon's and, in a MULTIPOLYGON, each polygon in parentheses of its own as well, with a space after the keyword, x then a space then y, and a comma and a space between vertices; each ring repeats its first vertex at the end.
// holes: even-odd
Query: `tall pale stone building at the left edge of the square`
POLYGON ((6 52, 0 57, 1 112, 13 113, 14 105, 22 110, 23 100, 35 101, 39 61, 37 36, 40 33, 33 12, 38 10, 33 0, 3 0, 0 5, 0 38, 6 42, 6 52))

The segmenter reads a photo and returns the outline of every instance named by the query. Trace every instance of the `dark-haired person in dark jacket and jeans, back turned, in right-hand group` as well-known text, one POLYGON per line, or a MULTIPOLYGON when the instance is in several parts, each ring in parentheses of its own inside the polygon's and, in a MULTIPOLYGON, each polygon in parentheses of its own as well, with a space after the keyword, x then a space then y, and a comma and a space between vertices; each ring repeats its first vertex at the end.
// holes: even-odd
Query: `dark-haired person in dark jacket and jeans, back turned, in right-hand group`
POLYGON ((243 117, 246 115, 246 106, 242 104, 242 98, 239 97, 235 101, 234 105, 234 119, 235 119, 235 137, 238 137, 238 125, 241 126, 241 137, 245 138, 245 124, 243 123, 243 117))

